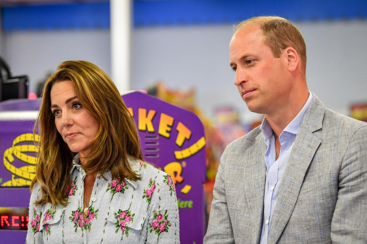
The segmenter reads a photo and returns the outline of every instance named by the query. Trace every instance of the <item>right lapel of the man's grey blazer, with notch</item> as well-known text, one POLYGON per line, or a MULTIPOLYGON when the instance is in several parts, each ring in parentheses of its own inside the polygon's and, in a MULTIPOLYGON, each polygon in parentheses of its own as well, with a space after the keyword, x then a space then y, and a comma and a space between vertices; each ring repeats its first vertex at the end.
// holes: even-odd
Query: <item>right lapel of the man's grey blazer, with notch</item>
POLYGON ((276 243, 297 202, 306 171, 321 140, 313 132, 322 128, 325 106, 313 94, 312 102, 299 126, 290 158, 280 184, 268 243, 276 243))

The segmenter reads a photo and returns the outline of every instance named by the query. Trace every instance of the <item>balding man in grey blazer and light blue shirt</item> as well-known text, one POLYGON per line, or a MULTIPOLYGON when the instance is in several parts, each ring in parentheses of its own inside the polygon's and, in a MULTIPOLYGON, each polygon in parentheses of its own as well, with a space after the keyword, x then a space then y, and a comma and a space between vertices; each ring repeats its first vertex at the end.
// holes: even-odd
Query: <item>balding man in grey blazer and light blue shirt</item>
POLYGON ((288 20, 240 23, 229 52, 242 99, 265 118, 222 155, 204 243, 367 243, 367 123, 308 91, 288 20))

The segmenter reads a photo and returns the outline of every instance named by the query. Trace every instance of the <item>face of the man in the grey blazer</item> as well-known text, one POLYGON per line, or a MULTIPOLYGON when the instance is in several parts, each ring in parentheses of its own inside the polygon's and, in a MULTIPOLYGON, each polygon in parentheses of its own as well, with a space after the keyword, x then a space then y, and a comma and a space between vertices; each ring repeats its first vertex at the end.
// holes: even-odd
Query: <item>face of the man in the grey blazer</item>
POLYGON ((291 90, 287 55, 273 56, 259 26, 239 29, 230 41, 229 55, 235 85, 250 111, 271 114, 286 105, 291 90))

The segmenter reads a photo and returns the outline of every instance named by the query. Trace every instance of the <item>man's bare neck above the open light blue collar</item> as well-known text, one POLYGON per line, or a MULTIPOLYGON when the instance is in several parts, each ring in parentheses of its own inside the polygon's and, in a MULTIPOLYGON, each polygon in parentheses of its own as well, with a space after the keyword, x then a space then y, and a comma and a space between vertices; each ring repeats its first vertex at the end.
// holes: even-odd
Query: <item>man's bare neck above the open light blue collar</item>
POLYGON ((274 113, 265 114, 270 127, 273 129, 275 138, 279 138, 280 134, 289 123, 298 115, 309 97, 309 91, 292 98, 287 105, 278 108, 274 113))

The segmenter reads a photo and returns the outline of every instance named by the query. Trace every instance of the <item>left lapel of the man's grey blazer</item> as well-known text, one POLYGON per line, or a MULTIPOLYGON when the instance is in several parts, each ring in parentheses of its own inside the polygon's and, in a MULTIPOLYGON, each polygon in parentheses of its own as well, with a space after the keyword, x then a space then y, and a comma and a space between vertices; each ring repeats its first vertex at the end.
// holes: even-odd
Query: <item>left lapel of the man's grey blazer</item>
POLYGON ((259 243, 264 212, 264 194, 266 180, 265 152, 266 144, 261 133, 256 137, 257 144, 253 150, 247 150, 244 159, 249 162, 244 169, 245 200, 250 211, 250 225, 252 228, 252 243, 259 243))

